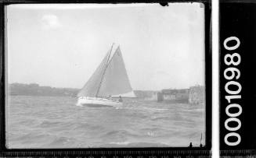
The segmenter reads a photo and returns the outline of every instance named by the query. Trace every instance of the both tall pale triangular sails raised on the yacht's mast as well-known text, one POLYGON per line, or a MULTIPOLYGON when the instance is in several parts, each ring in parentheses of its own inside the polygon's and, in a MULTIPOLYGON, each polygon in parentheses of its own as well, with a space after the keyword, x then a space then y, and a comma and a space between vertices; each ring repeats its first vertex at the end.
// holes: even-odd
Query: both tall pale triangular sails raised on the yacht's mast
POLYGON ((96 72, 78 93, 78 97, 107 97, 123 93, 133 93, 124 66, 120 47, 111 55, 111 50, 103 58, 96 72))

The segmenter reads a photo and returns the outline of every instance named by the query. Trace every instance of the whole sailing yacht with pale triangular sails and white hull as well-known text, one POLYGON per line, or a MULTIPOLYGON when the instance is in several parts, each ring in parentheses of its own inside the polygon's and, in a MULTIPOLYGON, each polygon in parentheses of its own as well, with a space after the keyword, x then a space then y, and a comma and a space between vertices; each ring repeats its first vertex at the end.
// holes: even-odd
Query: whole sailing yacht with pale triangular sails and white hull
POLYGON ((110 51, 78 93, 78 106, 121 106, 122 102, 110 97, 135 97, 124 66, 120 47, 110 51))

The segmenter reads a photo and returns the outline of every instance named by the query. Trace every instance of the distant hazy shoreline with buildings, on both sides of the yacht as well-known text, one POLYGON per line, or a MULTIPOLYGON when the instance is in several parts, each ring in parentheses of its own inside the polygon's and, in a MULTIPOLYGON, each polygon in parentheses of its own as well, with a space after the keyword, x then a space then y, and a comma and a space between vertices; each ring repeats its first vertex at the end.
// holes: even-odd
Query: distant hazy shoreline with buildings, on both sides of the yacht
MULTIPOLYGON (((73 97, 76 98, 80 89, 56 88, 40 86, 37 83, 11 83, 8 85, 8 96, 37 96, 37 97, 73 97)), ((145 100, 165 101, 169 103, 204 103, 204 86, 191 86, 189 89, 134 90, 136 98, 145 100)))

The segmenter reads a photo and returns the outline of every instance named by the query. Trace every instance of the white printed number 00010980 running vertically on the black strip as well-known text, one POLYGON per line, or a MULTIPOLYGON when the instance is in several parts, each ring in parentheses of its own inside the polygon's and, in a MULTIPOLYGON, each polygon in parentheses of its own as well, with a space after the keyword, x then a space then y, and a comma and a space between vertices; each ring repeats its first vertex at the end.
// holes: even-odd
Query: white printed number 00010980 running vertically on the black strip
MULTIPOLYGON (((237 37, 228 37, 224 40, 224 47, 227 51, 234 51, 240 46, 240 40, 237 37), (234 46, 228 46, 229 42, 235 42, 236 44, 234 46)), ((224 141, 225 144, 228 146, 237 146, 241 142, 241 137, 237 133, 237 130, 241 128, 241 121, 239 118, 240 114, 242 113, 242 107, 240 104, 233 103, 233 100, 241 99, 240 92, 242 90, 242 86, 239 82, 235 81, 237 79, 240 79, 240 70, 236 68, 235 66, 240 65, 241 57, 238 53, 233 54, 225 54, 224 57, 225 65, 230 66, 228 68, 225 68, 224 71, 224 77, 227 79, 227 83, 225 83, 225 99, 228 101, 228 106, 225 107, 225 114, 229 118, 225 120, 225 129, 229 132, 225 135, 224 141), (230 87, 233 87, 232 90, 230 90, 230 87), (236 108, 238 111, 235 113, 232 113, 230 109, 236 108), (236 122, 235 127, 230 127, 229 122, 236 122), (236 138, 236 141, 229 141, 229 138, 236 138)))

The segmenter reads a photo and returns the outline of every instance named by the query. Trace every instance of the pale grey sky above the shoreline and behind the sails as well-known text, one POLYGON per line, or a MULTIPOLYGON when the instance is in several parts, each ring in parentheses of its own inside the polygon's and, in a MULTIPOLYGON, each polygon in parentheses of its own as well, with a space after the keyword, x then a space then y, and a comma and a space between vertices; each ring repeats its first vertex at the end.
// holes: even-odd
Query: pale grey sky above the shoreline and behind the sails
POLYGON ((113 43, 133 90, 204 85, 204 5, 8 5, 9 83, 82 88, 113 43))

